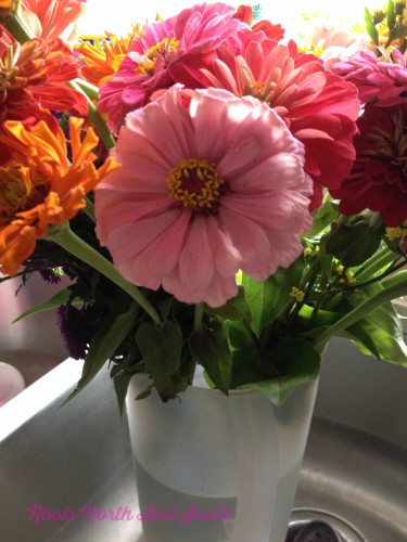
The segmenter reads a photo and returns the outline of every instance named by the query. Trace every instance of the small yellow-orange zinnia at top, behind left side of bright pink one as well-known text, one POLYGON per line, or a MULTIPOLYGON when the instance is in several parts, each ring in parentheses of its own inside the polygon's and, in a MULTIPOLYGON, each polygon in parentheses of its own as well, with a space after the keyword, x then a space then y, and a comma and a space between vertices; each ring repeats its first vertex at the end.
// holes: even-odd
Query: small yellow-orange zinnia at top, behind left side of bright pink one
POLYGON ((75 50, 84 62, 82 76, 92 85, 100 87, 117 72, 120 62, 128 53, 131 40, 140 36, 140 26, 136 25, 132 33, 125 37, 118 37, 106 33, 106 39, 92 38, 91 41, 84 40, 75 50))

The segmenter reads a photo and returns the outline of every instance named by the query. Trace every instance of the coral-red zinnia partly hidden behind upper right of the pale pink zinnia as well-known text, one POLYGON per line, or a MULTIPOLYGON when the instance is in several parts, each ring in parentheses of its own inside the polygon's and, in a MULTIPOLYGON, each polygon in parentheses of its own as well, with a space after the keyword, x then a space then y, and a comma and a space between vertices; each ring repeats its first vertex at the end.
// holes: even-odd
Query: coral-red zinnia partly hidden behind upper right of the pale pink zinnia
POLYGON ((300 53, 293 41, 285 46, 254 35, 241 43, 239 55, 219 48, 211 68, 201 69, 201 83, 256 96, 285 120, 305 145, 315 209, 322 201, 321 185, 339 186, 351 171, 357 89, 327 72, 317 56, 300 53))

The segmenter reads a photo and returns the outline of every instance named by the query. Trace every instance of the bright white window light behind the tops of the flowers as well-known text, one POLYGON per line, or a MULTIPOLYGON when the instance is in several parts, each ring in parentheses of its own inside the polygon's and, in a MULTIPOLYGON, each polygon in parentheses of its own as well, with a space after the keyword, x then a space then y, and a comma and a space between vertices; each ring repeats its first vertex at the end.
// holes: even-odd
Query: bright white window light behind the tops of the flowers
MULTIPOLYGON (((215 0, 206 0, 212 3, 215 0)), ((378 5, 372 0, 264 0, 264 1, 230 1, 236 7, 240 4, 256 5, 260 3, 263 18, 272 23, 291 26, 302 12, 319 11, 327 13, 330 20, 364 20, 364 7, 372 11, 378 5)), ((79 34, 104 34, 105 30, 114 34, 127 34, 131 24, 154 21, 155 14, 162 17, 176 15, 183 8, 189 8, 199 1, 191 0, 87 0, 87 13, 78 24, 79 34)), ((381 4, 380 4, 381 5, 381 4)))

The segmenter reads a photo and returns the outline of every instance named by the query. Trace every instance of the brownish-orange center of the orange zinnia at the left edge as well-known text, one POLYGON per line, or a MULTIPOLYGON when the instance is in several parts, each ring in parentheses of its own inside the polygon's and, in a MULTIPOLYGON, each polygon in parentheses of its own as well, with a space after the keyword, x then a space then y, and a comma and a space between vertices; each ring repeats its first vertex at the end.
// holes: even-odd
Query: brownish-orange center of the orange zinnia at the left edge
POLYGON ((48 182, 40 176, 33 181, 29 168, 1 167, 0 220, 35 207, 43 201, 48 191, 48 182))

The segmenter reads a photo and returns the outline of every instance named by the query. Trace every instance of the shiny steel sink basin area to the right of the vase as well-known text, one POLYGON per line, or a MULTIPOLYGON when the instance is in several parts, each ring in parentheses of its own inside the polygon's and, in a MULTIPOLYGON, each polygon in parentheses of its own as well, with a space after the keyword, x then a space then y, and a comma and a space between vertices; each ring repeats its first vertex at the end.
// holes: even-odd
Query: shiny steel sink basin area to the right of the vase
POLYGON ((292 520, 345 542, 407 541, 407 371, 332 341, 292 520))

